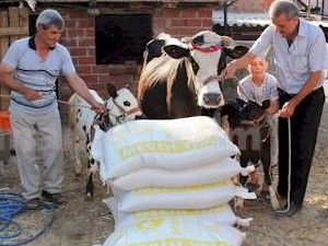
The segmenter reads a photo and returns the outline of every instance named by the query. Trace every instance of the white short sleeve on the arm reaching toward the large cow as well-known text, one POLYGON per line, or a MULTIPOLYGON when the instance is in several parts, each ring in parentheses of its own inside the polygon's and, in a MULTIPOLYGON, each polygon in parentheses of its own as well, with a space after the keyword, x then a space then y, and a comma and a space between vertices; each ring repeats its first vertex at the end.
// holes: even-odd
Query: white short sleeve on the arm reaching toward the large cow
POLYGON ((265 57, 273 44, 274 32, 272 25, 268 26, 250 47, 249 52, 257 57, 265 57))

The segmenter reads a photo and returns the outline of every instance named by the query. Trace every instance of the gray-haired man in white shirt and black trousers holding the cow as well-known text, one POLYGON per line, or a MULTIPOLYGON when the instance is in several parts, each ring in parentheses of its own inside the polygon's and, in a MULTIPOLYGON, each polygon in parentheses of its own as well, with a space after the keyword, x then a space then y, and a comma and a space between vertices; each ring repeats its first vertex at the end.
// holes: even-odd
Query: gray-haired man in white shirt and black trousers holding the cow
POLYGON ((263 57, 269 49, 274 55, 279 87, 279 184, 278 192, 290 198, 281 215, 293 215, 302 209, 308 174, 316 144, 318 126, 325 103, 323 70, 328 67, 328 52, 323 31, 298 17, 298 8, 288 0, 274 1, 269 10, 268 26, 242 58, 229 63, 223 77, 263 57), (291 120, 291 145, 289 124, 291 120), (289 150, 291 179, 289 179, 289 150))

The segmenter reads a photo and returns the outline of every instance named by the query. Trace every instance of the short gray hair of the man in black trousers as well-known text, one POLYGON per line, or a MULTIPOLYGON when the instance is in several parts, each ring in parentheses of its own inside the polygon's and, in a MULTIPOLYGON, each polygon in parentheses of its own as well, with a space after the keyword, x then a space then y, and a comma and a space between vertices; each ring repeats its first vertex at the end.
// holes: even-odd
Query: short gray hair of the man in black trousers
POLYGON ((286 17, 292 19, 298 16, 298 7, 289 0, 276 0, 269 9, 270 17, 278 17, 284 14, 286 17))

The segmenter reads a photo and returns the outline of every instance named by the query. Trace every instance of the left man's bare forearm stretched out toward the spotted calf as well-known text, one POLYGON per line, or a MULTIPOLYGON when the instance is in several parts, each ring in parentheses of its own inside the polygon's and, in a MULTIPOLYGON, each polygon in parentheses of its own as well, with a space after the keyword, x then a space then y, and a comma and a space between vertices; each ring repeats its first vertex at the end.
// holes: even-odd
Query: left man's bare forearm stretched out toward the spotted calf
POLYGON ((74 72, 70 75, 66 77, 68 80, 69 85, 72 87, 72 90, 78 93, 83 99, 85 99, 92 108, 97 114, 104 114, 105 113, 105 106, 93 97, 93 95, 89 92, 89 89, 85 84, 85 82, 74 72))

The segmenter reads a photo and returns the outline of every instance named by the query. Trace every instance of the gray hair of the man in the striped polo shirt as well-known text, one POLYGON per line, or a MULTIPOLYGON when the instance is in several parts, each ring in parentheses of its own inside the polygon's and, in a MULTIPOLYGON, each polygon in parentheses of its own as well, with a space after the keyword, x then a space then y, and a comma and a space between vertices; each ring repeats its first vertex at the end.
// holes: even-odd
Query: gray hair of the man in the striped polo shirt
POLYGON ((65 25, 63 19, 57 10, 44 10, 36 19, 36 28, 42 26, 44 30, 47 30, 52 25, 58 30, 62 30, 65 25))

